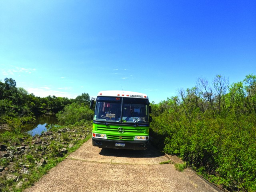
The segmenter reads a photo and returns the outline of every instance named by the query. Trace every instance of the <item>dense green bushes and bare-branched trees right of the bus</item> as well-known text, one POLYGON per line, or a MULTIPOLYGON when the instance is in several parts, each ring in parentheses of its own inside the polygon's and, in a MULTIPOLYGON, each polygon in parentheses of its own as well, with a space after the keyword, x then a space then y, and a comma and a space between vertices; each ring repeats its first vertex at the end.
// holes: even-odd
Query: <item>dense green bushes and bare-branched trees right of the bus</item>
POLYGON ((232 191, 256 191, 256 76, 229 84, 216 75, 152 104, 150 134, 208 180, 232 191))

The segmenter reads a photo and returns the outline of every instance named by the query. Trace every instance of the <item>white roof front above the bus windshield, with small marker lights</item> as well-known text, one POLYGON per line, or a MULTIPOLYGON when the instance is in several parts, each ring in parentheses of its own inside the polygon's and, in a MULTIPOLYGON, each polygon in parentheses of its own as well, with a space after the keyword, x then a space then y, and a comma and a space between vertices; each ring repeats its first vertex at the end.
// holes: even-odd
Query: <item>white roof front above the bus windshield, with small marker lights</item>
POLYGON ((144 93, 138 93, 133 91, 100 91, 98 92, 98 96, 113 96, 113 97, 136 97, 136 98, 147 98, 148 96, 144 93), (119 95, 118 95, 119 94, 119 95), (142 96, 142 97, 138 97, 142 96))

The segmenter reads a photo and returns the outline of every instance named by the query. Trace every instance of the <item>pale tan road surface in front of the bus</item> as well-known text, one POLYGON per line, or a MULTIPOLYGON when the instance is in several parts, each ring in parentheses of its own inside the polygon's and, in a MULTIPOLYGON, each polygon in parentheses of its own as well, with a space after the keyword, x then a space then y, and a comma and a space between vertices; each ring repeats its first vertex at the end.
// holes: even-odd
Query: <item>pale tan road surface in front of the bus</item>
POLYGON ((101 149, 92 139, 52 168, 26 192, 217 192, 194 171, 159 164, 168 158, 148 150, 101 149))

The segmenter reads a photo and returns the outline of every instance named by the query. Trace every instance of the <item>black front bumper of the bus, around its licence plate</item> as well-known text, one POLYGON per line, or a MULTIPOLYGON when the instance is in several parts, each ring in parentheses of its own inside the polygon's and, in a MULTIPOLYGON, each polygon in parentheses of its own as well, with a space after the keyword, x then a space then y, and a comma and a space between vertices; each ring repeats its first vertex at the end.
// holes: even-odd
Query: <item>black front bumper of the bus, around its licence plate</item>
POLYGON ((122 140, 107 140, 107 139, 92 138, 92 146, 97 146, 99 148, 143 150, 148 148, 148 140, 147 141, 122 141, 122 140), (116 146, 116 143, 124 144, 124 147, 116 146))

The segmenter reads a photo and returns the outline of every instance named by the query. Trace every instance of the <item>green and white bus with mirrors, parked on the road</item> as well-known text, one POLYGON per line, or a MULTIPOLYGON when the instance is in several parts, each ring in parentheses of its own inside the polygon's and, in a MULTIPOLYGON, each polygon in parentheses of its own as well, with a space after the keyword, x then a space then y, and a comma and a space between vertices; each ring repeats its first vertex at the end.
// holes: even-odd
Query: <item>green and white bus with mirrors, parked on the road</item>
POLYGON ((101 91, 96 100, 92 145, 100 148, 147 149, 150 102, 143 93, 101 91))

